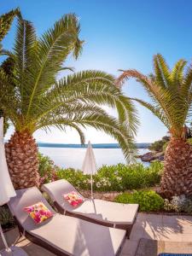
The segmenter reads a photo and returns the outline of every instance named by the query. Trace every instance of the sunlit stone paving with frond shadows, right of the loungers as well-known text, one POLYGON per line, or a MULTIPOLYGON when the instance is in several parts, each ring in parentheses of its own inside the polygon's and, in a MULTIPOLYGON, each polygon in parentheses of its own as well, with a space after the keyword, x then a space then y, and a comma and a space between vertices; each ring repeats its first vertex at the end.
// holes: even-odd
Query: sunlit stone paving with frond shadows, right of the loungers
POLYGON ((139 213, 130 240, 125 242, 121 256, 134 256, 140 238, 158 241, 192 241, 192 216, 139 213))

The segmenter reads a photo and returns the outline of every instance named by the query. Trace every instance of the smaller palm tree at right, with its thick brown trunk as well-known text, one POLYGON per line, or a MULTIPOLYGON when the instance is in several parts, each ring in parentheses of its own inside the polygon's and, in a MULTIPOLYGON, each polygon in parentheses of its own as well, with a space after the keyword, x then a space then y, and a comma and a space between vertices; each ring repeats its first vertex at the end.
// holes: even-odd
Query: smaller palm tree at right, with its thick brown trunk
POLYGON ((137 70, 126 70, 116 82, 120 86, 125 79, 137 79, 151 102, 134 100, 154 113, 171 133, 160 185, 160 193, 166 197, 192 194, 192 148, 186 142, 185 129, 191 113, 192 66, 185 68, 186 64, 179 60, 171 70, 162 55, 154 55, 153 74, 146 76, 137 70))

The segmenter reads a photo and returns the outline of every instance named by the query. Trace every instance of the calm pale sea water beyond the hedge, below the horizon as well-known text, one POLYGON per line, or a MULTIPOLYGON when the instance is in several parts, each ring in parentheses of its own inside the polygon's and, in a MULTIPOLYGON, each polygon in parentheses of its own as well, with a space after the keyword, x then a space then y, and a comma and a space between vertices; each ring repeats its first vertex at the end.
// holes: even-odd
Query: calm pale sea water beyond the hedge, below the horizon
MULTIPOLYGON (((42 154, 48 155, 51 160, 55 162, 56 166, 75 169, 81 169, 83 164, 86 148, 42 148, 39 147, 42 154)), ((144 154, 148 149, 138 149, 138 154, 144 154)), ((96 166, 99 168, 103 165, 117 165, 118 163, 125 163, 124 156, 119 148, 94 148, 96 156, 96 166)), ((140 159, 137 159, 141 162, 140 159)), ((148 166, 148 163, 144 163, 148 166)))

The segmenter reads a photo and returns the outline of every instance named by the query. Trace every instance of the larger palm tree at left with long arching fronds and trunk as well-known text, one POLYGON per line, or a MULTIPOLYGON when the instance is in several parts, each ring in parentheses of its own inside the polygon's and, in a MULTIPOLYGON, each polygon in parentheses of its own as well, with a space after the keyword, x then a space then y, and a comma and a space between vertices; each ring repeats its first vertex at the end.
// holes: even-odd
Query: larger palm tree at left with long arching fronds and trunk
MULTIPOLYGON (((65 15, 55 26, 36 37, 32 23, 18 20, 15 46, 9 55, 12 75, 0 69, 0 107, 15 126, 6 144, 9 172, 15 189, 38 186, 38 146, 32 134, 38 129, 62 131, 72 127, 84 143, 82 127, 91 126, 116 138, 126 160, 134 151, 137 114, 132 102, 114 85, 114 78, 101 71, 82 71, 57 80, 67 55, 77 58, 83 41, 79 22, 65 15), (119 119, 102 106, 116 108, 119 119)), ((69 68, 71 69, 71 68, 69 68)))

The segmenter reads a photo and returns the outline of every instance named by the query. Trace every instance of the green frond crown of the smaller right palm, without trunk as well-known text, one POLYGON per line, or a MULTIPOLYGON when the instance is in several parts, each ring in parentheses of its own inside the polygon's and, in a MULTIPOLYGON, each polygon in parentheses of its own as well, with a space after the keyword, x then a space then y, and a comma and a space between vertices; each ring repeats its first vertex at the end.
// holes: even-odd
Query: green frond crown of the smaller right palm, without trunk
POLYGON ((183 125, 189 116, 192 102, 192 68, 183 73, 186 61, 177 61, 172 71, 161 55, 154 56, 154 73, 149 76, 137 70, 126 70, 117 79, 121 86, 126 79, 134 78, 143 85, 153 104, 134 99, 154 113, 174 137, 182 137, 183 125))

